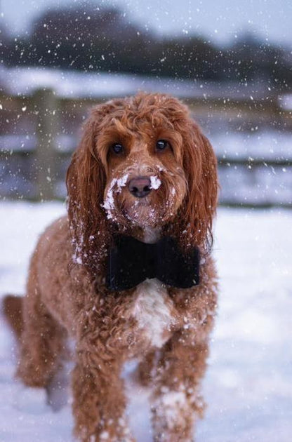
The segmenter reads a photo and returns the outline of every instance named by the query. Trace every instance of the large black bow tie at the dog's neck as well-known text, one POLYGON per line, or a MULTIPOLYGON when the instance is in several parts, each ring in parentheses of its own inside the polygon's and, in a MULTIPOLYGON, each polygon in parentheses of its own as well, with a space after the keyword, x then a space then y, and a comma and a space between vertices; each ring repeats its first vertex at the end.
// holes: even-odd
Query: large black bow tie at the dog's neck
POLYGON ((176 241, 165 236, 155 244, 146 244, 131 236, 117 235, 107 262, 107 287, 127 290, 145 279, 190 288, 199 284, 199 249, 183 255, 176 241))

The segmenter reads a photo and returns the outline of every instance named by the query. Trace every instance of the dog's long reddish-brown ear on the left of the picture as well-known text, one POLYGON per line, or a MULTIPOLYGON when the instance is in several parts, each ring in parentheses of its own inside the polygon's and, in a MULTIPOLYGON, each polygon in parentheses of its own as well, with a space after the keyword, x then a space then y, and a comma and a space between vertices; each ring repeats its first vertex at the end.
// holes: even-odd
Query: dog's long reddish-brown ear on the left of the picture
POLYGON ((74 260, 91 270, 96 269, 105 253, 105 236, 108 232, 107 217, 102 208, 105 168, 96 149, 98 130, 107 113, 106 105, 97 106, 91 112, 66 177, 74 260))

